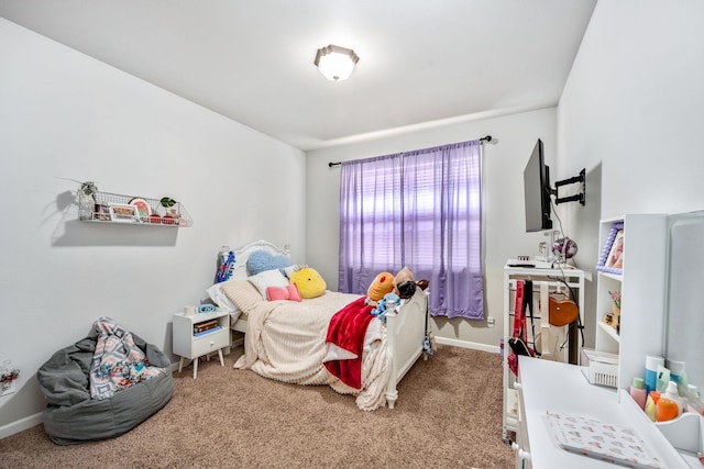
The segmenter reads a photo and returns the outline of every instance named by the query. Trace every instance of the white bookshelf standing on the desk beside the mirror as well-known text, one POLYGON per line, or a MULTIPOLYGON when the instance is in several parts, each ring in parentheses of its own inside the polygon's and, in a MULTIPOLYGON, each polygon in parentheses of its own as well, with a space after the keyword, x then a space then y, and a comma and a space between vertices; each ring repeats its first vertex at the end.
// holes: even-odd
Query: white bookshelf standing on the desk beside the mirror
MULTIPOLYGON (((597 272, 595 349, 618 355, 617 383, 628 389, 642 377, 645 357, 662 356, 667 288, 667 215, 632 214, 600 222, 600 246, 612 227, 624 224, 622 272, 597 272), (620 330, 604 323, 612 311, 609 292, 620 291, 620 330)), ((617 395, 620 395, 617 393, 617 395)))

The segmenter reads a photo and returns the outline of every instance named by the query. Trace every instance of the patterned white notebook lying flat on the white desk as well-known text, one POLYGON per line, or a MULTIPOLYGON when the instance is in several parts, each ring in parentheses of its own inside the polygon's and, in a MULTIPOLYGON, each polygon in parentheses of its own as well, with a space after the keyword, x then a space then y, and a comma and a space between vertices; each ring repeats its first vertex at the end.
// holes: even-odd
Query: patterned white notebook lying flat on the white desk
POLYGON ((631 428, 562 412, 548 411, 546 418, 562 449, 628 468, 663 468, 631 428))

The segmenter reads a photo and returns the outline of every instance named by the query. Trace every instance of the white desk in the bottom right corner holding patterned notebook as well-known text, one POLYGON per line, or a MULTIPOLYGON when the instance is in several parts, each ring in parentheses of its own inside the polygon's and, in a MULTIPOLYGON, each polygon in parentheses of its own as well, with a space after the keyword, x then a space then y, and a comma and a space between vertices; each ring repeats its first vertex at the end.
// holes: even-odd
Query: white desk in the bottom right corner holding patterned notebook
POLYGON ((520 422, 516 449, 520 449, 525 458, 517 453, 517 469, 617 467, 560 448, 546 426, 546 411, 579 414, 634 428, 663 468, 689 467, 630 398, 619 403, 616 390, 590 384, 580 367, 519 357, 518 373, 520 422))

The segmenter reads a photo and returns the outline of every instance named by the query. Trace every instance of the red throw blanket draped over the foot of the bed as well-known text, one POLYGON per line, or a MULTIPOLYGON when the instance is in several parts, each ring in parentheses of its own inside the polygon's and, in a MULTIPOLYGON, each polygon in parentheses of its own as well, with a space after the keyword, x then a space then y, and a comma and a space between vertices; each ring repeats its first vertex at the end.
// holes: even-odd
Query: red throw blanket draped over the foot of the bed
POLYGON ((354 300, 342 310, 334 313, 328 325, 326 343, 333 344, 354 358, 326 361, 323 365, 340 381, 354 389, 362 389, 362 349, 364 335, 370 321, 372 306, 364 304, 365 298, 354 300))

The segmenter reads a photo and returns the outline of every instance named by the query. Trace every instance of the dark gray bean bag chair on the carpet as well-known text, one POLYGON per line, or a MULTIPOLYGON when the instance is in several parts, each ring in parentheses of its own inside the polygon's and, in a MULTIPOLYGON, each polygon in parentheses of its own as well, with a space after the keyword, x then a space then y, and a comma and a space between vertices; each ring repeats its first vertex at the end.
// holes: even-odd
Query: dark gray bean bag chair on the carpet
POLYGON ((44 429, 57 445, 76 445, 122 435, 161 410, 174 394, 170 360, 156 346, 132 333, 134 345, 150 366, 165 372, 116 392, 91 399, 89 371, 98 333, 56 351, 36 377, 48 404, 42 413, 44 429))

